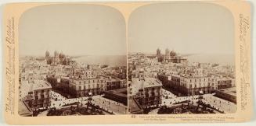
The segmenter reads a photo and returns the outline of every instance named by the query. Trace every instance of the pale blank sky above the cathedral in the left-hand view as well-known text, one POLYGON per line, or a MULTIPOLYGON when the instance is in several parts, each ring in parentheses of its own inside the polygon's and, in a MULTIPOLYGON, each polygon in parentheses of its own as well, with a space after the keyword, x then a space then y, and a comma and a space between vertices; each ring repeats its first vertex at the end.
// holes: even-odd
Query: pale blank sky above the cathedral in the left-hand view
POLYGON ((124 17, 103 5, 43 5, 23 13, 20 55, 126 54, 124 17))

